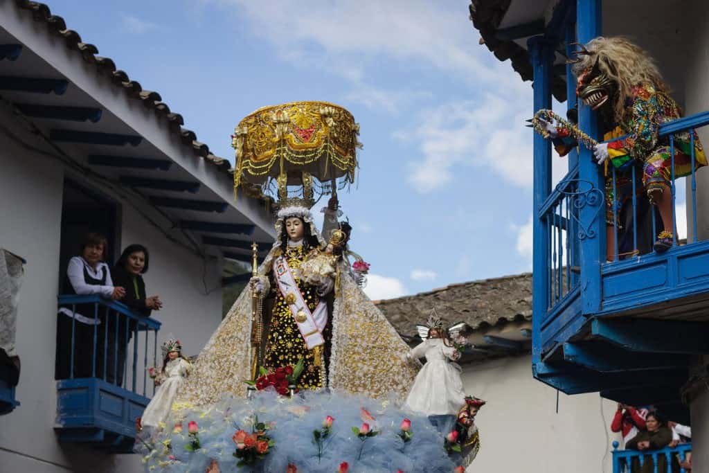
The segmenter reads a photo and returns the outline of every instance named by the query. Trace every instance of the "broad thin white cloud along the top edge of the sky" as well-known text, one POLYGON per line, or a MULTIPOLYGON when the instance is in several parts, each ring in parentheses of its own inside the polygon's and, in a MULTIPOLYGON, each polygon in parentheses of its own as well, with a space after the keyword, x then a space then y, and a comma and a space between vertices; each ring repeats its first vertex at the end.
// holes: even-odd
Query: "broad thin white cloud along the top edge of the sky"
POLYGON ((255 33, 299 65, 318 64, 342 69, 347 77, 362 77, 352 70, 367 67, 374 55, 386 55, 423 61, 461 77, 496 79, 484 67, 496 61, 486 48, 475 46, 478 35, 467 20, 464 4, 445 9, 427 0, 313 0, 304 14, 300 0, 206 3, 235 7, 241 18, 250 20, 255 33), (318 54, 313 54, 313 47, 318 54))

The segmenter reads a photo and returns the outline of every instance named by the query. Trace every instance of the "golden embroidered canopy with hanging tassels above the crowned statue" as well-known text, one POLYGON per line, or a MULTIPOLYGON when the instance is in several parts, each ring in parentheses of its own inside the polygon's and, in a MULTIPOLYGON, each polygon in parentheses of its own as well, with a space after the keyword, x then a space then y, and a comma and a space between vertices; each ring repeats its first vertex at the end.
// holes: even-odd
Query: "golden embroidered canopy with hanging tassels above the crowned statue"
MULTIPOLYGON (((276 180, 303 185, 305 177, 321 184, 319 194, 354 182, 359 124, 335 104, 301 101, 259 108, 240 121, 232 136, 236 150, 234 188, 261 187, 276 180)), ((267 192, 268 193, 268 192, 267 192)))

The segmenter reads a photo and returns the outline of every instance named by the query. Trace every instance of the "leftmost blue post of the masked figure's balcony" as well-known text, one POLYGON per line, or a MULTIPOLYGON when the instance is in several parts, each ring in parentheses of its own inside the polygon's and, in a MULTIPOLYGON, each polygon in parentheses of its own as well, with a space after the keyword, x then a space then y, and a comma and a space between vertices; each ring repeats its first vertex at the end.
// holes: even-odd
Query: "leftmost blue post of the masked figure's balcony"
MULTIPOLYGON (((554 42, 542 36, 527 40, 534 70, 534 112, 552 108, 551 77, 554 62, 554 42)), ((539 133, 534 134, 534 209, 532 236, 532 363, 540 361, 541 323, 549 306, 549 228, 539 215, 540 208, 552 191, 552 145, 539 133)))

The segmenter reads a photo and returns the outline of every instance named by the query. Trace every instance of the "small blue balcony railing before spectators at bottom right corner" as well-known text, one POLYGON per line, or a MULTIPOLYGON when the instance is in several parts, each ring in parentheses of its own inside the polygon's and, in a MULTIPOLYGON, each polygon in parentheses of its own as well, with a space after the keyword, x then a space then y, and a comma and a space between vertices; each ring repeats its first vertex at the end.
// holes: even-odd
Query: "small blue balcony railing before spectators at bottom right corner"
POLYGON ((654 473, 686 473, 688 470, 679 467, 692 451, 691 443, 683 443, 676 447, 665 447, 660 450, 618 450, 618 442, 613 442, 613 473, 634 473, 648 471, 642 469, 647 462, 652 464, 654 473), (663 460, 664 459, 664 460, 663 460), (664 465, 664 468, 662 466, 664 465))

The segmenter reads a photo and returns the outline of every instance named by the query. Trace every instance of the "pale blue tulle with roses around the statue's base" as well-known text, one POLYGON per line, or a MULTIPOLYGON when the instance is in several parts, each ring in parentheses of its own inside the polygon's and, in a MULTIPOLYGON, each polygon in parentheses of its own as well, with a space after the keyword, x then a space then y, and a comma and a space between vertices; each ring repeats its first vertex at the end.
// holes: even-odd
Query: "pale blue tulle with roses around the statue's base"
POLYGON ((301 472, 337 472, 342 462, 350 473, 388 472, 401 469, 406 473, 450 473, 456 464, 443 447, 443 437, 426 416, 402 411, 390 400, 373 400, 364 396, 306 391, 293 398, 278 396, 273 391, 260 391, 253 399, 228 397, 204 411, 186 411, 168 418, 161 430, 144 430, 136 440, 136 450, 143 454, 146 472, 204 473, 212 460, 224 472, 286 472, 294 464, 301 472), (362 408, 375 418, 368 421, 379 435, 360 440, 352 427, 362 425, 362 408), (335 421, 324 441, 318 458, 313 430, 322 428, 325 416, 335 421), (275 445, 262 460, 251 466, 238 467, 232 436, 237 430, 251 433, 256 418, 271 425, 268 435, 275 445), (411 441, 404 444, 398 437, 401 421, 411 420, 411 441), (189 451, 191 438, 188 424, 199 427, 200 447, 189 451), (182 432, 174 425, 182 424, 182 432))

